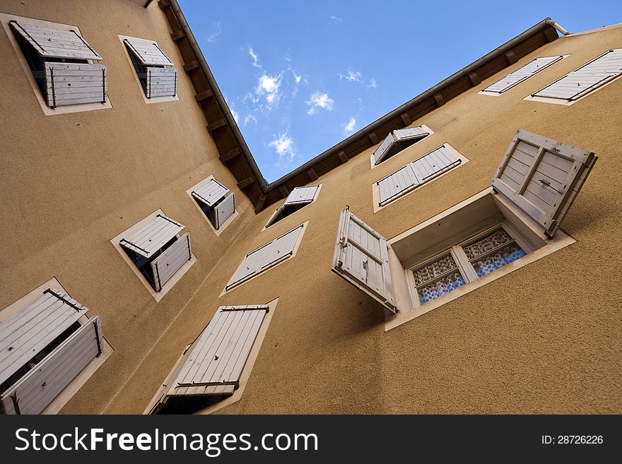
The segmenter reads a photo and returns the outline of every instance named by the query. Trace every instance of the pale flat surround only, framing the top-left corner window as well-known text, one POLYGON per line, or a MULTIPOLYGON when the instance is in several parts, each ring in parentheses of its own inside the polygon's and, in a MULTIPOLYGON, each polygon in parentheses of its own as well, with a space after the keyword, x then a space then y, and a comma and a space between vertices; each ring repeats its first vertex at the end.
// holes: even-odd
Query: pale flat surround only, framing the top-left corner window
MULTIPOLYGON (((13 30, 11 30, 11 25, 9 25, 9 21, 16 20, 19 23, 35 25, 42 28, 52 28, 59 30, 74 30, 76 34, 80 37, 84 37, 80 28, 77 25, 69 25, 64 23, 54 23, 52 21, 40 20, 35 18, 27 18, 25 16, 12 15, 8 13, 0 13, 0 23, 4 28, 6 35, 8 37, 8 41, 11 43, 14 52, 17 55, 18 61, 20 62, 26 78, 28 78, 28 82, 30 86, 33 88, 33 92, 35 93, 35 97, 37 102, 43 111, 45 116, 53 116, 54 114, 68 114, 68 113, 77 113, 84 111, 93 111, 96 109, 109 109, 112 108, 112 102, 110 101, 110 94, 108 91, 106 92, 106 102, 91 102, 91 103, 78 103, 77 105, 61 105, 59 107, 49 107, 47 105, 47 97, 41 91, 39 84, 37 83, 35 76, 33 76, 33 71, 30 69, 30 65, 28 64, 28 60, 24 56, 21 47, 16 39, 13 30)), ((93 60, 84 60, 85 64, 99 64, 99 62, 95 62, 93 60)))

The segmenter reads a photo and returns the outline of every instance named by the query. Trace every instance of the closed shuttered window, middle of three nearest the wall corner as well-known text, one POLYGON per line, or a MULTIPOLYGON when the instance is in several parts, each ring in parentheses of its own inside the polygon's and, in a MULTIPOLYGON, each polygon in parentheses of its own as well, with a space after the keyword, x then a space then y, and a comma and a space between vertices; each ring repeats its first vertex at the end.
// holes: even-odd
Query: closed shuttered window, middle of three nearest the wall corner
POLYGON ((306 225, 307 222, 247 254, 226 285, 225 291, 231 290, 233 287, 237 287, 237 285, 254 278, 265 270, 295 256, 300 241, 303 239, 306 225))

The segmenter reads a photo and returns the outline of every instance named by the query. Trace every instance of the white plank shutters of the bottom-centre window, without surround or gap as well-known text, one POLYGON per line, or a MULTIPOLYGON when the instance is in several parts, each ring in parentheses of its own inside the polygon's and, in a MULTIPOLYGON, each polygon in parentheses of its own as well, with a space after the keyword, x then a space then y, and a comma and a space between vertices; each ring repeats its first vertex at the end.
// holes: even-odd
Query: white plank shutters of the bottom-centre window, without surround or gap
POLYGON ((220 307, 188 350, 167 396, 231 394, 269 311, 267 306, 220 307))

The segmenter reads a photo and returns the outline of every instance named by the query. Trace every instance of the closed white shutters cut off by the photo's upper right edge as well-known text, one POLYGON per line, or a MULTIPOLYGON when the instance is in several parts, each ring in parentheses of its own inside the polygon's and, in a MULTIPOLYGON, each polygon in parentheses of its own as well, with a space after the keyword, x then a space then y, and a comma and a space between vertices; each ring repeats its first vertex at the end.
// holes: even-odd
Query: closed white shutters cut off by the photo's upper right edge
POLYGON ((613 49, 532 94, 534 97, 577 100, 622 74, 622 49, 613 49))

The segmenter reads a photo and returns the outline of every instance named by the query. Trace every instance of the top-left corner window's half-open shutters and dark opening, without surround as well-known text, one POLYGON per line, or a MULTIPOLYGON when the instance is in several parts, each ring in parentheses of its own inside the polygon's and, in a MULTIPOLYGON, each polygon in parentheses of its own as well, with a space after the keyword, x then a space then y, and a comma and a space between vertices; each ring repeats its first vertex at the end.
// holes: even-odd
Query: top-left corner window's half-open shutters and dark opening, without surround
POLYGON ((107 68, 76 32, 9 21, 35 82, 50 108, 107 101, 107 68))

